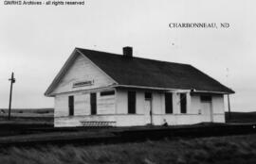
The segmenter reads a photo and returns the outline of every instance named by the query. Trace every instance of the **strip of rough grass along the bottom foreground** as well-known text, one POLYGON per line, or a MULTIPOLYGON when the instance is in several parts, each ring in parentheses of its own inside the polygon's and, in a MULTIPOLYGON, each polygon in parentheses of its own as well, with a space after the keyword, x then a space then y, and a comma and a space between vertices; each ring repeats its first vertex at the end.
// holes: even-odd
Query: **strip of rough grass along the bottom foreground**
POLYGON ((16 164, 212 164, 256 162, 256 135, 203 139, 147 140, 95 146, 0 149, 0 163, 16 164))

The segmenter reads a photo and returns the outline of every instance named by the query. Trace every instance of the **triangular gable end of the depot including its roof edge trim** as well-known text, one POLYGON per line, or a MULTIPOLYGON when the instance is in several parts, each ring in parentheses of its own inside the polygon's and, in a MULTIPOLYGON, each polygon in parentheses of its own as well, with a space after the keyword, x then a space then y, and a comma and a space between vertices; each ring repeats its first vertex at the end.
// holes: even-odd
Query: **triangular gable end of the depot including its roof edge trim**
POLYGON ((75 49, 46 90, 45 95, 54 96, 58 93, 90 90, 114 84, 117 82, 113 78, 75 49))

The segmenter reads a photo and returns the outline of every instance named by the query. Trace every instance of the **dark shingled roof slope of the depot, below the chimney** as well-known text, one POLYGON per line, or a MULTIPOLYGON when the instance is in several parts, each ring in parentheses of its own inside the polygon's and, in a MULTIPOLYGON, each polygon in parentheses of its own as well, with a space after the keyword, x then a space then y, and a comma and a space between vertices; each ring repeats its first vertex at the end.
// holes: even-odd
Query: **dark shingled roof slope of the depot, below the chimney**
POLYGON ((189 64, 76 48, 119 85, 234 93, 189 64))

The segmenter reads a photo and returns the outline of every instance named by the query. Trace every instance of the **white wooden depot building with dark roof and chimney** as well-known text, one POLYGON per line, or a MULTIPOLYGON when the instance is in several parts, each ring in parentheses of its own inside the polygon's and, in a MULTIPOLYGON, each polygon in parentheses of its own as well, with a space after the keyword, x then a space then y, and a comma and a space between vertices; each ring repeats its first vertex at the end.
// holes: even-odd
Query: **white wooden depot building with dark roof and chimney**
POLYGON ((75 48, 46 90, 55 126, 225 123, 228 87, 192 65, 75 48))

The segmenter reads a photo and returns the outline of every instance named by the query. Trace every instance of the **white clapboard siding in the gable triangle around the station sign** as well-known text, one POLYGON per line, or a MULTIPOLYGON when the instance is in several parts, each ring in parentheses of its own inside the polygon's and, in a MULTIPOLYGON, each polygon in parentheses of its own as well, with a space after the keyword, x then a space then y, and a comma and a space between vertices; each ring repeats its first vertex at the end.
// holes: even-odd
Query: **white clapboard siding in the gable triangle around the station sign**
POLYGON ((108 75, 104 74, 88 58, 78 55, 73 64, 64 74, 59 84, 53 90, 53 94, 75 90, 90 90, 107 87, 114 81, 108 75), (93 85, 73 88, 75 82, 93 81, 93 85))

